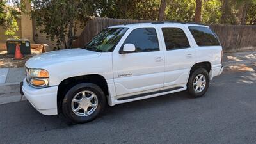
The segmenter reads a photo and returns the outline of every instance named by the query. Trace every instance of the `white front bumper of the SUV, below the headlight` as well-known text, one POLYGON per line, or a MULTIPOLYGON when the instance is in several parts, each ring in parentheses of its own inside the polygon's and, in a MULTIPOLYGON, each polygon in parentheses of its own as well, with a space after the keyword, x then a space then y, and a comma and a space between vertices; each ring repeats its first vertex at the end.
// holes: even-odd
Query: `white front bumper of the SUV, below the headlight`
POLYGON ((22 91, 32 106, 44 115, 57 115, 58 86, 47 88, 32 88, 23 80, 22 91))

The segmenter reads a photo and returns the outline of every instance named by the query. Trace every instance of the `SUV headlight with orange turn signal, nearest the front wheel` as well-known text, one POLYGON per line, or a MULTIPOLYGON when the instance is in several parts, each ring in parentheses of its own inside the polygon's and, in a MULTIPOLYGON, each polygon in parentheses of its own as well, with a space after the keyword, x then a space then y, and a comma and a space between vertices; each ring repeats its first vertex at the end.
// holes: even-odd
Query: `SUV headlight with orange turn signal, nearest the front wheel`
POLYGON ((27 72, 27 82, 36 88, 42 88, 49 86, 49 73, 47 70, 30 68, 26 70, 27 72))

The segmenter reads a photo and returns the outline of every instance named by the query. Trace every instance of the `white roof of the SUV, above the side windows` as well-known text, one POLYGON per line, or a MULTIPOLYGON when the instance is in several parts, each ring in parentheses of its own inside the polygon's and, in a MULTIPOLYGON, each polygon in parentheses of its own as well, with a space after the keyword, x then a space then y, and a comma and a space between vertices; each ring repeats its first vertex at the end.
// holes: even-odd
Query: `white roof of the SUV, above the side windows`
POLYGON ((117 28, 117 27, 126 27, 126 28, 133 28, 133 27, 143 27, 143 26, 152 26, 156 24, 163 24, 166 26, 203 26, 203 27, 209 27, 204 24, 197 24, 193 22, 141 22, 141 23, 135 23, 135 24, 122 24, 122 25, 116 25, 116 26, 110 26, 108 28, 117 28))

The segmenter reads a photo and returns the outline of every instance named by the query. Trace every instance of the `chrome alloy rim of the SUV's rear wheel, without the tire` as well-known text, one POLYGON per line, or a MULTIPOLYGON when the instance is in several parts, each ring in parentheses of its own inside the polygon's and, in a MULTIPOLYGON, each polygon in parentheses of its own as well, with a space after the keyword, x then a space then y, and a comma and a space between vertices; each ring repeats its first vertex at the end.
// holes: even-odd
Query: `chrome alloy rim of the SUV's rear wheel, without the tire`
POLYGON ((198 74, 193 81, 193 88, 196 93, 200 93, 204 90, 206 84, 205 76, 198 74))

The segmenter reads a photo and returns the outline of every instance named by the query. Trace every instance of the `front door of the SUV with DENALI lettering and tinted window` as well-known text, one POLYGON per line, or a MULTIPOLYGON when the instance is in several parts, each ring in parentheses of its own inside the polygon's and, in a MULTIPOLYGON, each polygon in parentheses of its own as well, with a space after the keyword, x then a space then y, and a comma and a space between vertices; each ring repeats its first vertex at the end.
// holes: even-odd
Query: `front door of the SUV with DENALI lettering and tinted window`
POLYGON ((125 97, 157 91, 162 88, 164 54, 159 48, 156 28, 133 29, 125 39, 124 44, 134 44, 136 51, 113 54, 116 95, 121 97, 124 95, 125 97))

